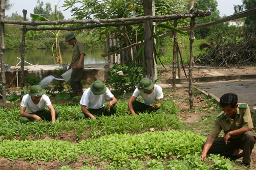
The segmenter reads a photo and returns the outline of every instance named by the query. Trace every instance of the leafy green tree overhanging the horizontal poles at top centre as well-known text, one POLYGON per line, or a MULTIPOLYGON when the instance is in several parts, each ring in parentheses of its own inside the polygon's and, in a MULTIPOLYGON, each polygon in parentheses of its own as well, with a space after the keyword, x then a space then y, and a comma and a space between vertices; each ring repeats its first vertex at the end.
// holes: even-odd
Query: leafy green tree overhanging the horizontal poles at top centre
MULTIPOLYGON (((76 19, 112 19, 112 18, 128 18, 128 17, 138 17, 144 16, 144 2, 142 0, 66 0, 62 7, 67 7, 68 10, 71 8, 71 12, 74 12, 73 16, 76 19), (76 7, 76 3, 82 3, 81 7, 76 7)), ((152 1, 151 1, 152 2, 152 1)), ((148 1, 148 3, 150 3, 148 1)), ((185 4, 185 0, 155 0, 155 13, 156 15, 170 15, 175 12, 182 12, 182 7, 185 4)), ((152 8, 152 7, 151 7, 152 8)), ((149 14, 149 13, 148 13, 149 14)), ((148 15, 147 14, 147 15, 148 15)), ((88 24, 90 25, 90 24, 88 24)), ((81 25, 77 25, 81 26, 81 25)), ((149 25, 148 25, 149 26, 149 25)), ((151 29, 151 28, 149 28, 151 29)), ((83 30, 77 31, 77 33, 83 30)), ((99 40, 105 41, 106 37, 109 35, 114 35, 118 38, 118 45, 113 48, 119 50, 125 46, 136 43, 136 33, 138 40, 144 37, 144 26, 143 25, 133 25, 133 26, 120 26, 120 27, 108 27, 108 28, 95 28, 93 30, 87 30, 88 32, 93 32, 94 35, 99 37, 99 40), (136 32, 137 31, 137 32, 136 32)), ((152 50, 153 50, 153 46, 152 50)), ((129 51, 131 52, 131 51, 129 51)), ((132 52, 135 56, 135 52, 132 52)), ((131 56, 131 55, 130 55, 131 56)), ((147 56, 148 57, 148 56, 147 56)), ((153 57, 153 56, 152 56, 153 57)), ((151 58, 152 58, 151 57, 151 58)), ((131 62, 131 57, 129 62, 131 62)), ((153 58, 152 58, 153 61, 153 58)), ((146 61, 146 63, 149 63, 146 61)), ((153 70, 153 65, 148 65, 148 68, 153 70)), ((152 76, 146 72, 147 76, 152 76)), ((154 77, 154 75, 153 75, 154 77)), ((151 78, 150 78, 151 79, 151 78)))

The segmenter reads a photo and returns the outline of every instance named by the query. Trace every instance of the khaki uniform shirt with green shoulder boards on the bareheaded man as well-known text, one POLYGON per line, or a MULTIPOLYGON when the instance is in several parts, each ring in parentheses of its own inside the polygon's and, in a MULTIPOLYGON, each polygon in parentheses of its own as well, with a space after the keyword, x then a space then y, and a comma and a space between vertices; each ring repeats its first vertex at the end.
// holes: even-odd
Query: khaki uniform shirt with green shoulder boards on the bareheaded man
MULTIPOLYGON (((238 105, 246 105, 243 103, 238 103, 238 105)), ((222 112, 219 114, 219 116, 225 114, 222 112)), ((219 117, 218 116, 218 117, 219 117)), ((228 116, 223 116, 219 121, 218 119, 215 120, 214 127, 212 128, 210 132, 210 136, 212 138, 217 138, 219 136, 219 133, 223 129, 225 135, 233 130, 237 130, 240 128, 253 128, 252 124, 252 119, 251 119, 251 112, 250 108, 237 108, 237 113, 236 117, 234 119, 228 117, 228 116)), ((237 139, 242 137, 243 134, 241 135, 232 135, 230 139, 237 139)))

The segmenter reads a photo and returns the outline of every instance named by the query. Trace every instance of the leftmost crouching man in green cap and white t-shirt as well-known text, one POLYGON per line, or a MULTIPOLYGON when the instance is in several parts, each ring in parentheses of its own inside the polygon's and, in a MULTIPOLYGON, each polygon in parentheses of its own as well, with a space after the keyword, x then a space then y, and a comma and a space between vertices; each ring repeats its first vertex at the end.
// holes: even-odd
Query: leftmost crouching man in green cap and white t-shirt
POLYGON ((55 123, 59 111, 53 108, 50 98, 45 93, 46 91, 41 86, 33 85, 29 93, 23 96, 22 103, 20 103, 20 116, 22 116, 20 123, 27 123, 33 120, 48 120, 55 123), (46 110, 45 105, 49 110, 46 110))

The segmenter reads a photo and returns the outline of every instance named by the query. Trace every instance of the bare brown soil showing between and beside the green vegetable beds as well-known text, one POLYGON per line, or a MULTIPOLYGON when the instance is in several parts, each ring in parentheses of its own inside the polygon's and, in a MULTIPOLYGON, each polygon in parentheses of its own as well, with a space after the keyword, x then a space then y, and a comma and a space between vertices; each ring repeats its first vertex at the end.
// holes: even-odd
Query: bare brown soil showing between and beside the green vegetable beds
MULTIPOLYGON (((170 69, 170 72, 172 72, 172 68, 168 67, 168 69, 170 69)), ((212 76, 210 74, 207 73, 207 71, 205 72, 204 69, 206 68, 194 68, 194 76, 196 77, 204 77, 204 76, 212 76), (203 70, 202 70, 203 69, 203 70)), ((209 70, 209 69, 206 69, 209 70)), ((183 70, 182 70, 183 71, 183 70)), ((188 70, 187 71, 187 75, 188 75, 188 70)), ((223 68, 214 68, 211 70, 212 71, 217 71, 220 72, 221 74, 224 75, 243 75, 243 74, 255 74, 256 72, 256 67, 254 66, 247 66, 247 67, 232 67, 232 68, 228 68, 228 67, 223 67, 223 68)), ((172 75, 169 74, 166 71, 160 71, 161 76, 164 79, 171 79, 172 75)), ((184 73, 183 73, 184 74, 184 73)), ((161 84, 160 84, 161 86, 161 84)), ((198 123, 200 124, 200 118, 201 116, 205 116, 207 117, 207 115, 209 115, 209 112, 206 112, 206 110, 211 110, 214 109, 214 107, 212 106, 208 106, 205 102, 205 99, 201 98, 200 95, 195 95, 194 96, 194 108, 199 108, 202 107, 203 110, 202 111, 190 111, 189 110, 189 103, 188 103, 188 91, 185 88, 177 88, 176 91, 174 92, 170 92, 170 93, 164 93, 164 96, 169 96, 170 98, 173 99, 173 102, 180 108, 180 111, 178 113, 179 118, 181 120, 181 122, 185 122, 187 124, 193 124, 193 123, 198 123), (178 98, 177 98, 178 95, 178 98)), ((127 98, 128 99, 128 98, 127 98)), ((167 99, 164 99, 167 100, 167 99)), ((57 103, 64 103, 67 102, 65 100, 61 100, 61 101, 55 101, 54 97, 52 97, 51 99, 53 104, 57 104, 57 103)), ((70 100, 72 101, 72 100, 70 100)), ((19 106, 20 102, 17 102, 17 106, 19 106)), ((8 104, 8 106, 12 107, 12 104, 8 104)), ((205 127, 202 127, 205 128, 205 127)), ((165 130, 167 130, 168 128, 166 128, 165 130)), ((195 130, 195 129, 194 129, 195 130)), ((195 132, 199 132, 199 130, 196 130, 195 132)), ((208 134, 205 134, 206 136, 208 134)), ((84 134, 80 140, 83 139, 87 139, 88 134, 84 134)), ((19 136, 16 136, 15 138, 19 138, 19 136)), ((70 142, 78 142, 75 140, 76 135, 74 131, 70 131, 69 133, 63 132, 62 134, 59 134, 57 137, 50 137, 50 136, 41 136, 40 139, 57 139, 57 140, 63 140, 63 141, 70 141, 70 142)), ((2 138, 2 139, 5 139, 2 138)), ((38 137, 34 137, 34 136, 29 136, 27 138, 28 140, 37 140, 38 137)), ((39 139, 39 140, 40 140, 39 139)), ((65 161, 65 162, 60 162, 58 160, 53 160, 53 161, 48 161, 48 162, 43 162, 40 160, 37 160, 36 162, 32 162, 33 160, 24 160, 24 159, 16 159, 15 161, 10 161, 8 158, 0 158, 0 169, 2 170, 9 170, 9 169, 38 169, 38 168, 42 168, 44 170, 47 169, 60 169, 61 166, 65 165, 65 166, 70 166, 70 168, 72 169, 80 169, 82 166, 84 166, 85 164, 89 165, 89 166, 95 166, 98 169, 106 169, 103 164, 101 163, 93 163, 94 157, 92 156, 88 156, 88 157, 84 157, 84 156, 80 156, 79 160, 75 163, 71 162, 71 161, 65 161)), ((238 159, 238 162, 241 162, 242 158, 238 159)), ((238 169, 244 169, 241 166, 235 165, 238 169)), ((256 167, 256 149, 254 148, 252 150, 252 154, 251 154, 251 167, 256 167)), ((252 169, 251 168, 251 169, 252 169)))

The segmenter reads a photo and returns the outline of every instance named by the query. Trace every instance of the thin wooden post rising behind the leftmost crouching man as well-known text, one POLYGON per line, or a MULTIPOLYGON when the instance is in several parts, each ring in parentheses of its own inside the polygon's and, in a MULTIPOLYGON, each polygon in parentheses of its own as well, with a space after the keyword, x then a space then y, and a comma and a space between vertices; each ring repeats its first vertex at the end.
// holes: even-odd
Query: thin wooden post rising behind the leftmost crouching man
MULTIPOLYGON (((27 10, 23 10, 23 20, 27 20, 27 10)), ((21 89, 25 87, 25 76, 24 76, 24 61, 25 61, 25 35, 26 35, 26 25, 23 25, 22 28, 22 56, 21 56, 21 63, 20 65, 20 72, 22 73, 22 85, 20 86, 21 89)), ((22 91, 22 94, 24 94, 24 91, 22 91)))

